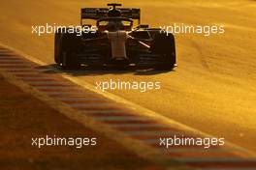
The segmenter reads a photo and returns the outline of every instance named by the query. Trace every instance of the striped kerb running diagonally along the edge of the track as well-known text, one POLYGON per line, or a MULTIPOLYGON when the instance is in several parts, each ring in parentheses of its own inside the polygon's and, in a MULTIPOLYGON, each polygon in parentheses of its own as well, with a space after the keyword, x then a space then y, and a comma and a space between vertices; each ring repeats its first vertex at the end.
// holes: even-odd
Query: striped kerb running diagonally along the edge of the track
POLYGON ((61 110, 60 101, 75 111, 62 108, 62 114, 68 118, 104 132, 107 137, 115 136, 114 139, 126 148, 151 159, 159 166, 172 169, 234 170, 251 170, 256 167, 254 155, 233 144, 216 146, 212 143, 208 146, 205 143, 202 146, 167 142, 169 138, 205 140, 211 136, 176 122, 166 122, 148 111, 120 105, 89 89, 81 88, 67 77, 57 74, 58 71, 48 70, 7 48, 0 48, 0 73, 9 82, 38 99, 48 101, 51 106, 50 99, 53 99, 53 107, 58 105, 58 110, 61 110))

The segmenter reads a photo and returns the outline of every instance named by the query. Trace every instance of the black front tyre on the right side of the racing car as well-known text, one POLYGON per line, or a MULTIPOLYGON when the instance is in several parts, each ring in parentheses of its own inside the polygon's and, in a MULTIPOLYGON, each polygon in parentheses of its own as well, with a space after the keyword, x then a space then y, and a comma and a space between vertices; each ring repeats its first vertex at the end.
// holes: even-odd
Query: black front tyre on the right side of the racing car
POLYGON ((176 41, 173 34, 158 33, 151 43, 151 52, 160 54, 159 63, 155 66, 157 70, 173 70, 176 66, 176 41))

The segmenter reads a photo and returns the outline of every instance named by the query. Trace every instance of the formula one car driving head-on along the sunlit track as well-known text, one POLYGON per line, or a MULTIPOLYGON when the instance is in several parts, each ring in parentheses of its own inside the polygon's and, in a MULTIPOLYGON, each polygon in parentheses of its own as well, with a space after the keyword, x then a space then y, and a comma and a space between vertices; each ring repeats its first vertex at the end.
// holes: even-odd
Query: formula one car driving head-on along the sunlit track
POLYGON ((64 69, 86 66, 135 65, 172 70, 176 66, 176 42, 172 34, 160 28, 141 24, 141 10, 116 8, 84 8, 80 28, 89 31, 78 36, 74 32, 55 33, 55 62, 64 69), (95 26, 84 23, 93 20, 95 26), (135 22, 138 21, 137 26, 135 22))

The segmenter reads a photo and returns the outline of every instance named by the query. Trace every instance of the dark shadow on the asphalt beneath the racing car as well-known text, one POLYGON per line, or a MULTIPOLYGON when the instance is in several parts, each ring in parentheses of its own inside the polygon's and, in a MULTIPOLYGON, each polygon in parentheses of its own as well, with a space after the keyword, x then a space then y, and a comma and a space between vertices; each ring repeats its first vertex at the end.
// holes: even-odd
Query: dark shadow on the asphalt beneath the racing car
POLYGON ((47 65, 37 67, 38 70, 46 72, 46 73, 59 73, 64 72, 73 76, 97 76, 104 74, 125 74, 125 73, 133 73, 134 75, 156 75, 160 73, 166 73, 170 71, 156 71, 150 68, 139 68, 139 67, 103 67, 103 68, 87 68, 81 66, 80 68, 64 70, 62 67, 58 65, 47 65))

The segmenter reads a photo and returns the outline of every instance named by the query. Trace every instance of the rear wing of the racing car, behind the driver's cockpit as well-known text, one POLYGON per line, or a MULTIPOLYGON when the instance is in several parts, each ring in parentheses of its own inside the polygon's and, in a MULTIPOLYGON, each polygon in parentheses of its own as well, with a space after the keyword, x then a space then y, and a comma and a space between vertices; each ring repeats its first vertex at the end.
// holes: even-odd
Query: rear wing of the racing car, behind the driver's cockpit
MULTIPOLYGON (((80 10, 80 22, 82 19, 100 19, 103 17, 108 17, 108 8, 84 8, 80 10)), ((118 8, 121 12, 122 17, 128 17, 131 19, 137 19, 139 24, 141 24, 141 9, 124 9, 118 8)))

